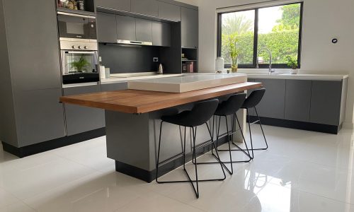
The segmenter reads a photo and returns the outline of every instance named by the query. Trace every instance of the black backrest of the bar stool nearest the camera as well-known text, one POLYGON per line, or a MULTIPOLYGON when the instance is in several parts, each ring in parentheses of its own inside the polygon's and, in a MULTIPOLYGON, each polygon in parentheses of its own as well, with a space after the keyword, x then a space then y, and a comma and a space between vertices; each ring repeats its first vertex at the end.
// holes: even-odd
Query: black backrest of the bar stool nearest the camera
POLYGON ((205 124, 212 115, 217 110, 217 105, 219 105, 219 100, 206 100, 198 102, 194 105, 193 109, 188 114, 190 120, 188 120, 188 125, 190 126, 199 126, 205 124))

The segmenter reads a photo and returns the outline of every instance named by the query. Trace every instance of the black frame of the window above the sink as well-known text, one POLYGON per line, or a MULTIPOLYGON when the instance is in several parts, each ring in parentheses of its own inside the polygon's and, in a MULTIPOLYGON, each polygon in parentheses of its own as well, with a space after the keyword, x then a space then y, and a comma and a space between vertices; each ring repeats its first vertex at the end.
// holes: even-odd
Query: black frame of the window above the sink
MULTIPOLYGON (((304 11, 304 2, 292 2, 288 4, 278 4, 272 6, 261 6, 256 8, 248 8, 244 10, 236 10, 236 11, 227 11, 224 13, 217 13, 217 57, 222 56, 222 14, 225 13, 235 13, 241 11, 254 11, 254 34, 253 34, 253 64, 239 64, 239 68, 241 69, 256 69, 256 59, 258 52, 258 11, 261 8, 269 8, 273 6, 285 6, 290 4, 300 4, 300 20, 299 20, 299 43, 297 48, 297 69, 301 66, 301 46, 302 46, 302 13, 304 11)), ((266 69, 269 67, 269 64, 258 64, 259 69, 266 69)), ((231 64, 225 64, 225 69, 231 69, 231 64)), ((290 66, 287 64, 272 64, 272 68, 274 69, 290 69, 290 66)))

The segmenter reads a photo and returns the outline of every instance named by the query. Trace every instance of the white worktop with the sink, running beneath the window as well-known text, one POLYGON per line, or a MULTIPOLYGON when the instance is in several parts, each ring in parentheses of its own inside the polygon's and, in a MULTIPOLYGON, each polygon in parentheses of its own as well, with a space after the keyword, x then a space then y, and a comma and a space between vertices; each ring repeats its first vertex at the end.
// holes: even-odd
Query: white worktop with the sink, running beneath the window
POLYGON ((312 73, 247 73, 249 78, 275 78, 275 79, 297 79, 313 81, 341 81, 348 78, 347 74, 312 74, 312 73))

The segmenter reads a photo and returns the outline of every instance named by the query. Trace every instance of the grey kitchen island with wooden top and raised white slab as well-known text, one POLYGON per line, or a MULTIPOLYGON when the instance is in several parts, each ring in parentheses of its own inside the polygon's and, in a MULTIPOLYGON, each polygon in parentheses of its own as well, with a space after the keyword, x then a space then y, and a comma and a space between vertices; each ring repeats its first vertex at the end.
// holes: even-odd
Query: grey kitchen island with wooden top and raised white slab
MULTIPOLYGON (((210 98, 225 99, 232 93, 259 88, 261 83, 247 82, 246 75, 176 76, 133 81, 127 90, 61 97, 65 104, 96 107, 105 110, 107 156, 115 160, 115 170, 152 182, 155 179, 156 146, 159 141, 160 117, 188 110, 194 102, 210 98), (141 86, 145 87, 141 87, 141 86), (158 85, 158 86, 156 86, 158 85), (174 90, 175 88, 180 88, 174 90), (139 90, 137 90, 139 89, 139 90), (164 90, 156 91, 156 90, 164 90), (187 92, 183 92, 188 90, 187 92)), ((212 120, 210 121, 212 122, 212 120)), ((184 129, 173 124, 164 126, 161 160, 181 153, 184 129)), ((225 129, 222 129, 225 131, 225 129)), ((186 134, 191 134, 187 129, 186 134)), ((204 126, 198 128, 197 144, 207 141, 204 126)), ((190 138, 186 141, 191 152, 190 138)), ((205 148, 200 153, 208 151, 205 148)), ((176 158, 161 167, 166 173, 182 164, 176 158)))

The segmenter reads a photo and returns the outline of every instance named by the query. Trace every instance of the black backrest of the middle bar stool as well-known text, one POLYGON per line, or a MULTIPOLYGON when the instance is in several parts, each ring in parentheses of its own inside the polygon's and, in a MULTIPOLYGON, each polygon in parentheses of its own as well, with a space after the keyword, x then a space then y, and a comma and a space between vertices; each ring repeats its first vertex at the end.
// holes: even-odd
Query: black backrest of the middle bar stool
POLYGON ((246 93, 236 93, 231 95, 226 101, 217 107, 216 115, 229 115, 236 113, 246 100, 246 93))

